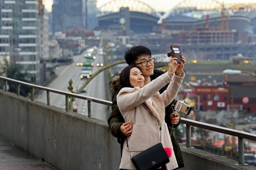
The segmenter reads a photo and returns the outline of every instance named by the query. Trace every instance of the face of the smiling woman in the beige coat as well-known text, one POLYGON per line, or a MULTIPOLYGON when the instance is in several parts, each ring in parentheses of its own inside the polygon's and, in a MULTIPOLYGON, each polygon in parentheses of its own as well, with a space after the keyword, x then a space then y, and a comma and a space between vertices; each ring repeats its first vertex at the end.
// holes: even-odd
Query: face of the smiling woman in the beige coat
POLYGON ((144 85, 144 80, 145 78, 142 76, 142 73, 138 68, 133 67, 130 70, 130 84, 132 87, 138 86, 139 88, 142 88, 144 85))

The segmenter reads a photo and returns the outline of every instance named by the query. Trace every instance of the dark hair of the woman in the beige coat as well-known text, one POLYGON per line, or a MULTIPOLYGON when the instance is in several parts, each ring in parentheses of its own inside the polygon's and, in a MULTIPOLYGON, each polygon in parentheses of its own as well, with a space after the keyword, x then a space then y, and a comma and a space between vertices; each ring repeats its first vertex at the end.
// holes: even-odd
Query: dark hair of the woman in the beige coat
POLYGON ((126 66, 120 73, 120 84, 122 87, 132 87, 131 83, 130 83, 130 70, 133 68, 133 67, 136 67, 138 68, 140 71, 141 69, 139 67, 137 67, 136 65, 128 65, 126 66))

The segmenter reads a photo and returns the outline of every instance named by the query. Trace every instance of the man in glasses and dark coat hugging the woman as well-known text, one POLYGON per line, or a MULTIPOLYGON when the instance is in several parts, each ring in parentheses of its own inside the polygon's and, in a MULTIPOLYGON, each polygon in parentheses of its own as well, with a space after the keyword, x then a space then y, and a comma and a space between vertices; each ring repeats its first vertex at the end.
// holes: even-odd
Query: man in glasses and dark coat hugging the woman
MULTIPOLYGON (((140 67, 142 75, 145 78, 144 86, 151 82, 151 80, 157 78, 161 74, 163 74, 163 71, 154 69, 154 62, 155 60, 151 57, 151 51, 145 46, 133 46, 130 49, 128 49, 125 52, 124 59, 126 60, 127 64, 136 64, 138 67, 140 67)), ((182 57, 182 60, 185 61, 184 57, 182 57)), ((183 67, 176 70, 176 75, 181 76, 183 67)), ((118 84, 119 76, 114 76, 112 78, 112 81, 110 82, 111 91, 113 92, 112 97, 112 111, 110 114, 110 117, 108 119, 109 129, 111 134, 117 138, 117 141, 119 144, 121 144, 121 155, 122 155, 122 148, 124 140, 127 138, 127 136, 130 136, 132 133, 132 122, 126 122, 124 123, 124 119, 117 107, 117 94, 120 90, 120 87, 118 88, 116 84, 118 84), (115 88, 114 88, 115 87, 115 88)), ((159 92, 162 93, 166 90, 168 84, 165 85, 159 92)), ((173 100, 169 106, 165 108, 165 122, 167 123, 168 127, 177 127, 180 124, 180 115, 174 114, 172 105, 174 105, 175 100, 173 100)), ((170 129, 169 129, 170 131, 170 129)), ((173 148, 175 157, 177 160, 177 163, 179 165, 178 168, 184 167, 184 163, 181 156, 181 150, 180 146, 177 142, 177 140, 174 138, 174 136, 171 136, 173 148)), ((177 169, 178 169, 177 168, 177 169)))

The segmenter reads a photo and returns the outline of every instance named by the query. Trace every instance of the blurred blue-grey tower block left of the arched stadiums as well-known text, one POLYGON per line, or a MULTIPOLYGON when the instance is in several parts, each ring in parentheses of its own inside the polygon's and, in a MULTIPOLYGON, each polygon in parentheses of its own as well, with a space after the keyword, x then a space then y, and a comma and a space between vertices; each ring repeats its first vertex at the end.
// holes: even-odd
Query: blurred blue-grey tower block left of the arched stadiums
POLYGON ((93 29, 97 26, 96 0, 54 0, 53 33, 70 29, 93 29))

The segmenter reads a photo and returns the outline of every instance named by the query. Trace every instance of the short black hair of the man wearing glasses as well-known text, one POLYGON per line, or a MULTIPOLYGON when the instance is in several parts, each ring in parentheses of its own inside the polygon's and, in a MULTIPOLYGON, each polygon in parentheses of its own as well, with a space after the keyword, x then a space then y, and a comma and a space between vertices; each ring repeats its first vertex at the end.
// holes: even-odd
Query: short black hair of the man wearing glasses
POLYGON ((135 61, 142 55, 149 55, 151 56, 151 51, 149 48, 139 45, 139 46, 133 46, 124 54, 124 59, 126 60, 127 64, 135 64, 135 61))

